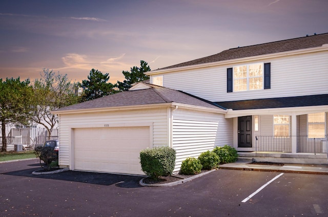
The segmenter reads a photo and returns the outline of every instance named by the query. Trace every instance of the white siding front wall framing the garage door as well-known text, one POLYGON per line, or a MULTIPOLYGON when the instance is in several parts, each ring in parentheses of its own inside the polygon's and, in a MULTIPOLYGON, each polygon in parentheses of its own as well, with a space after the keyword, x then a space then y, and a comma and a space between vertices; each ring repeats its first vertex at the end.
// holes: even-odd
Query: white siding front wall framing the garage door
POLYGON ((137 126, 142 123, 153 124, 153 145, 168 145, 168 120, 167 109, 153 109, 144 111, 119 111, 119 112, 99 112, 84 114, 60 115, 59 128, 59 164, 70 165, 71 156, 71 128, 74 127, 94 127, 104 126, 137 126))

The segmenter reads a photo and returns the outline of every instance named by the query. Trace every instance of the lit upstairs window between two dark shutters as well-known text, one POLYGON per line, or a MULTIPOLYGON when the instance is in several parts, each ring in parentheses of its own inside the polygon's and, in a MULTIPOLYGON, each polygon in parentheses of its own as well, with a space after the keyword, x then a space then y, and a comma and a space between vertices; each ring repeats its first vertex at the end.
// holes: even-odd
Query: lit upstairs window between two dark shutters
POLYGON ((233 68, 234 92, 263 89, 263 63, 233 68))

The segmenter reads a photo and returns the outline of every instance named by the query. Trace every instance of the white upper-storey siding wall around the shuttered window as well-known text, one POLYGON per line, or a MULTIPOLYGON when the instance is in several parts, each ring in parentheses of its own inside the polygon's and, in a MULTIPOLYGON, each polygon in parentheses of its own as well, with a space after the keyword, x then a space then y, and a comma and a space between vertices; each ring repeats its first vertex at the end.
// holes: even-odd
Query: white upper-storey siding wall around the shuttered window
MULTIPOLYGON (((163 83, 166 88, 185 91, 213 102, 328 92, 328 52, 254 62, 271 62, 271 89, 227 93, 227 68, 234 65, 165 73, 163 83)), ((245 62, 248 63, 252 62, 245 62)), ((240 64, 243 63, 237 63, 240 64)))

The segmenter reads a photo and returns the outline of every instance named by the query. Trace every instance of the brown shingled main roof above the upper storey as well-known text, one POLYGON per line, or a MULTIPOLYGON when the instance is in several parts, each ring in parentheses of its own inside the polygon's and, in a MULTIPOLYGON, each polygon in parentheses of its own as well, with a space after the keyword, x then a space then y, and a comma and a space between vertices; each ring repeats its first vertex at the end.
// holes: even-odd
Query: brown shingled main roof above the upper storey
POLYGON ((274 41, 274 42, 269 42, 260 45, 232 48, 229 50, 222 51, 218 54, 191 60, 188 62, 182 62, 158 70, 193 66, 202 63, 218 62, 223 60, 279 53, 285 51, 294 51, 294 50, 300 50, 306 48, 315 48, 315 47, 321 47, 324 44, 328 44, 328 33, 300 37, 300 38, 293 38, 288 40, 274 41))

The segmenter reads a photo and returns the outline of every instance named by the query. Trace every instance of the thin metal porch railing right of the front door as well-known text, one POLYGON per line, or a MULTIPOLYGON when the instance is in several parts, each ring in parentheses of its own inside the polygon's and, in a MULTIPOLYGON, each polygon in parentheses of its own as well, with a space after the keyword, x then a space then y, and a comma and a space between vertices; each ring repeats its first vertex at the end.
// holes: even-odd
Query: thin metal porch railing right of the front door
POLYGON ((292 152, 292 138, 296 137, 297 153, 327 153, 327 135, 325 138, 308 136, 255 136, 256 151, 292 152))

